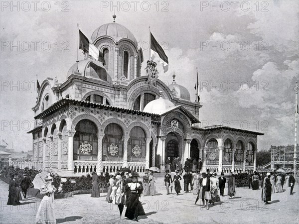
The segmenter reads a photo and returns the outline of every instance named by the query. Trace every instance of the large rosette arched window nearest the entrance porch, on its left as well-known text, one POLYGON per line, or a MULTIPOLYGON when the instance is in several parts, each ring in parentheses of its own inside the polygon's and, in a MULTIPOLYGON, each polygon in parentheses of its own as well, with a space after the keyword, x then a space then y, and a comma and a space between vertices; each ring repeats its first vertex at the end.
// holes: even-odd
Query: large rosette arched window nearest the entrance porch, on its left
POLYGON ((128 141, 128 161, 145 162, 146 150, 145 131, 139 126, 133 127, 130 131, 130 139, 128 141))

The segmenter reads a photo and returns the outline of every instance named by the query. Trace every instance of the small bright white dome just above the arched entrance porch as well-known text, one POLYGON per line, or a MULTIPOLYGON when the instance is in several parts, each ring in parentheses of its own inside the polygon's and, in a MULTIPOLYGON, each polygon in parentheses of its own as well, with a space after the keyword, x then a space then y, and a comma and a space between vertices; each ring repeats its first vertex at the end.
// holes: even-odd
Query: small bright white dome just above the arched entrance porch
POLYGON ((160 97, 159 99, 150 101, 144 108, 144 112, 162 114, 169 108, 173 107, 175 106, 171 101, 165 100, 162 97, 160 97))

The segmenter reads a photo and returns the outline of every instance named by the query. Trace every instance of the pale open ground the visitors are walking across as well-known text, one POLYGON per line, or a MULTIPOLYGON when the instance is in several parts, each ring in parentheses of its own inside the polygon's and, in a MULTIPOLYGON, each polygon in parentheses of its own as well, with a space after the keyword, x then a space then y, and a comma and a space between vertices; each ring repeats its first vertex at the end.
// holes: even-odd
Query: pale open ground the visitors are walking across
MULTIPOLYGON (((162 182, 162 178, 158 178, 162 182)), ((210 210, 201 208, 201 201, 194 205, 196 196, 192 193, 165 195, 158 184, 158 194, 142 196, 141 201, 147 216, 140 217, 140 223, 299 223, 299 185, 295 185, 293 196, 290 188, 283 193, 272 194, 271 205, 261 201, 261 190, 237 188, 234 199, 221 197, 222 203, 210 210)), ((225 189, 227 194, 227 189, 225 189)), ((0 181, 0 223, 33 224, 40 199, 29 198, 21 201, 21 206, 7 206, 8 185, 0 181)), ((91 198, 78 195, 72 198, 55 200, 57 223, 135 223, 123 216, 120 219, 118 207, 107 204, 105 196, 91 198)))

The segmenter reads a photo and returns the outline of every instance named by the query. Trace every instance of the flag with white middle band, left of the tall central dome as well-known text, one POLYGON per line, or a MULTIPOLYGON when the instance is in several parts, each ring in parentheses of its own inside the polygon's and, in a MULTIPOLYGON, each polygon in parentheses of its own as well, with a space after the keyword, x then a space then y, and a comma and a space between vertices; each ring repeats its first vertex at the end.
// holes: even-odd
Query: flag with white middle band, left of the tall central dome
POLYGON ((92 42, 81 32, 79 29, 79 49, 83 50, 83 53, 86 53, 96 59, 97 61, 103 62, 105 64, 104 56, 100 50, 93 45, 92 42))

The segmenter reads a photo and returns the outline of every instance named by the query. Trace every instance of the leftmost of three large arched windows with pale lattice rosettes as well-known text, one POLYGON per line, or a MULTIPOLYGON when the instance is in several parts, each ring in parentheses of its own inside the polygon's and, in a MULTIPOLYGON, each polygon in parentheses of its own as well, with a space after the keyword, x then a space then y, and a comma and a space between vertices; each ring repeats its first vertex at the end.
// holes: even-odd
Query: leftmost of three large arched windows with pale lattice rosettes
POLYGON ((90 120, 80 120, 74 135, 74 160, 97 160, 98 128, 90 120))

